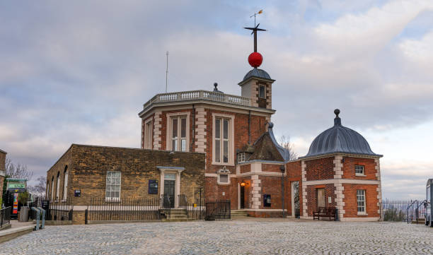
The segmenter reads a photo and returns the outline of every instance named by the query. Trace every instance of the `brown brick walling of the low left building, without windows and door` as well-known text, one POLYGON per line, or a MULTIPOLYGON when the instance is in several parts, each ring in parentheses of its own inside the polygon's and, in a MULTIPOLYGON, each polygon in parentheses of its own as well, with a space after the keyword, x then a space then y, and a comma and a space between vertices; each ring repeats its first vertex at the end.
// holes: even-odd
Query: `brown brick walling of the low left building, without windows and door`
POLYGON ((161 172, 156 166, 185 167, 180 174, 180 194, 186 194, 190 202, 194 192, 204 186, 204 154, 169 153, 161 150, 114 148, 102 146, 72 145, 59 161, 47 172, 47 179, 54 177, 54 190, 57 173, 60 173, 59 197, 62 198, 64 168, 69 171, 67 197, 74 205, 87 205, 91 198, 105 198, 107 171, 120 171, 121 198, 158 198, 161 194, 148 194, 149 179, 161 182, 161 172), (80 190, 81 197, 74 197, 80 190))

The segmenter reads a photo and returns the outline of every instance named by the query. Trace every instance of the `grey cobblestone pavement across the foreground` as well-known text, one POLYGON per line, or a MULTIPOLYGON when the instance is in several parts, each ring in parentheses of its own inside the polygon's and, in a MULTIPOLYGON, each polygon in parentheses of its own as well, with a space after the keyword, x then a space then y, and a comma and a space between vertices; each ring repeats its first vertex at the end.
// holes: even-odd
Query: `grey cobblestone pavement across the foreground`
POLYGON ((47 226, 0 254, 433 254, 433 229, 296 220, 47 226))

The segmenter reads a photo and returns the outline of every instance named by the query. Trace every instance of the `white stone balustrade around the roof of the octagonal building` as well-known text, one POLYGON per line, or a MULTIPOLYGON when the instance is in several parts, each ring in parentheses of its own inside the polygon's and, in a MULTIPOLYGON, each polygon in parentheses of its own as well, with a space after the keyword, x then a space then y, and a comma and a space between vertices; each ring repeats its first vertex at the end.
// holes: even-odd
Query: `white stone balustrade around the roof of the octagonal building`
POLYGON ((190 90, 157 94, 143 105, 143 110, 158 102, 179 102, 190 100, 209 100, 214 102, 226 102, 233 105, 251 106, 251 99, 249 97, 241 97, 238 95, 229 95, 207 90, 190 90))

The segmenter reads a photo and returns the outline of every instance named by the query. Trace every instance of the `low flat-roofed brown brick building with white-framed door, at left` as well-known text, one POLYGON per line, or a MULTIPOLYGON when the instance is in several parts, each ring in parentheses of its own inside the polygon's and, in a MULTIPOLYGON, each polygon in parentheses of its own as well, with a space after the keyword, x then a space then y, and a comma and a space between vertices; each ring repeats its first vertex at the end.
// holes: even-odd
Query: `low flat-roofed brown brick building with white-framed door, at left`
POLYGON ((170 188, 177 207, 180 195, 195 201, 203 184, 203 153, 72 144, 47 171, 47 197, 50 201, 73 198, 73 220, 81 224, 91 198, 115 204, 125 198, 159 198, 170 188), (149 191, 152 184, 156 192, 149 191))

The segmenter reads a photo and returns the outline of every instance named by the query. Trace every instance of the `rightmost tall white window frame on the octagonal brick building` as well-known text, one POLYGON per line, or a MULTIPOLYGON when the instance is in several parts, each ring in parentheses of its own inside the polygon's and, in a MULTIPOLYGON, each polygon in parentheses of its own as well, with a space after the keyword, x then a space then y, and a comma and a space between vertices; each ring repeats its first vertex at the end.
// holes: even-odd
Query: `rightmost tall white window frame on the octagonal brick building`
MULTIPOLYGON (((221 122, 221 126, 223 126, 222 122, 221 122)), ((221 134, 223 134, 222 129, 221 129, 221 134)), ((222 141, 222 135, 221 135, 221 140, 219 141, 221 143, 222 141)), ((221 143, 223 144, 223 143, 221 143)), ((234 115, 228 115, 228 114, 217 114, 217 113, 213 113, 212 114, 212 165, 234 165, 234 158, 235 158, 235 153, 234 153, 234 115), (221 162, 216 162, 215 161, 215 119, 229 119, 229 162, 223 162, 223 154, 224 154, 224 148, 223 146, 220 147, 220 161, 221 162)))

